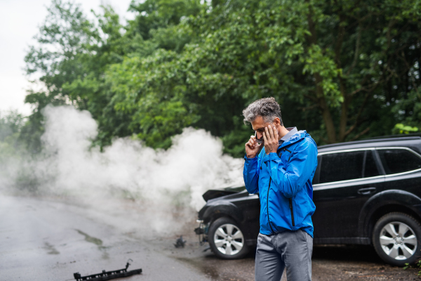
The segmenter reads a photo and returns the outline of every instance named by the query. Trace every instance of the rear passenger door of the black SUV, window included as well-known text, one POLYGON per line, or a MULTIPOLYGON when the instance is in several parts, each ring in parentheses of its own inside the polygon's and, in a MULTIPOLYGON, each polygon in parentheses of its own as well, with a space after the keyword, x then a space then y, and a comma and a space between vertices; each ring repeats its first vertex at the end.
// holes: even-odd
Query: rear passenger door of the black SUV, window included
POLYGON ((319 184, 314 185, 314 237, 356 237, 363 204, 380 191, 374 148, 322 152, 319 184))

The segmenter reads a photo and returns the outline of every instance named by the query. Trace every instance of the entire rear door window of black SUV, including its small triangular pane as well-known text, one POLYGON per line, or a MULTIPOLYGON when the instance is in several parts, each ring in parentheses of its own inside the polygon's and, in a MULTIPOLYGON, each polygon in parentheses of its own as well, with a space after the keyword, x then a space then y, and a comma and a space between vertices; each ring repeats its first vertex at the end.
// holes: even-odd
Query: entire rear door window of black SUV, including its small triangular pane
POLYGON ((372 176, 379 176, 379 171, 371 150, 331 153, 323 155, 321 159, 319 183, 372 176))

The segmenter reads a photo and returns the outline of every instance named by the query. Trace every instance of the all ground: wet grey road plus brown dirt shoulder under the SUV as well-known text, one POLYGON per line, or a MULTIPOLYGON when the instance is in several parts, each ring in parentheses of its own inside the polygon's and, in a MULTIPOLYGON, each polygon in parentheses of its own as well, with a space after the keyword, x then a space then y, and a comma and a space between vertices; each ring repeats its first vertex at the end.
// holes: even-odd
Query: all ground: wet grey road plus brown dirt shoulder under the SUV
MULTIPOLYGON (((125 227, 128 219, 57 200, 0 196, 0 280, 74 280, 75 272, 116 270, 128 259, 129 270, 143 273, 120 280, 254 280, 253 251, 246 259, 217 259, 197 242, 193 221, 181 233, 159 235, 141 217, 137 228, 125 227), (176 249, 180 234, 187 244, 176 249)), ((371 247, 314 248, 313 280, 416 280, 415 273, 388 266, 371 247)))

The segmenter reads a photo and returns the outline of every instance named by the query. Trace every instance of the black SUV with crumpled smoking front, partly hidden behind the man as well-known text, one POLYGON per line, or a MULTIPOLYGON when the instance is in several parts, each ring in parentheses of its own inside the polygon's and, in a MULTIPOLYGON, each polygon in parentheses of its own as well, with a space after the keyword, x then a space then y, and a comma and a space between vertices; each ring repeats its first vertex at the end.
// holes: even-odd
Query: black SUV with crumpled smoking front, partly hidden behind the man
MULTIPOLYGON (((420 258, 421 137, 323 145, 317 159, 314 244, 371 244, 395 266, 420 258)), ((257 242, 259 197, 240 190, 203 194, 195 231, 222 259, 238 259, 257 242)))

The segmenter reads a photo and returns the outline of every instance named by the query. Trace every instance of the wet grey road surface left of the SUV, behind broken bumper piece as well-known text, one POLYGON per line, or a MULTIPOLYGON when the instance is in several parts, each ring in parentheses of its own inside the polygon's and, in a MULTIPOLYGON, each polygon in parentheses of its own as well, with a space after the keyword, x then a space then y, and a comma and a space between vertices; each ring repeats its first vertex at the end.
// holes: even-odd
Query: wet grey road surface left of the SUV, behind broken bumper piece
POLYGON ((128 259, 129 270, 143 273, 123 280, 210 280, 169 257, 162 238, 147 230, 143 236, 122 233, 118 222, 103 216, 61 202, 0 197, 0 280, 74 280, 76 272, 124 268, 128 259))

